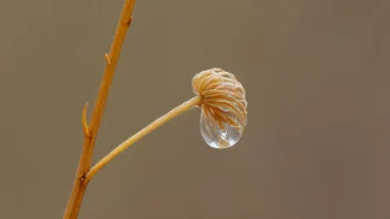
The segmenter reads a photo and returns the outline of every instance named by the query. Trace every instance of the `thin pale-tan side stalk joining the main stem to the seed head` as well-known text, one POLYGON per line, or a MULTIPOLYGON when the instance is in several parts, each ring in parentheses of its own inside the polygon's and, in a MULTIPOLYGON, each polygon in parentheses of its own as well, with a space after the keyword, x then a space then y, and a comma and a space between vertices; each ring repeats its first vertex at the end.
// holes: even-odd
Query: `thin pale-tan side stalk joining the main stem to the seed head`
POLYGON ((188 111, 189 108, 201 104, 202 98, 199 96, 193 97, 187 102, 184 102, 179 106, 173 108, 167 114, 161 116, 160 118, 155 119, 153 123, 137 132, 135 135, 127 138, 121 145, 119 145, 115 149, 113 149, 110 154, 103 157, 95 166, 91 168, 91 170, 85 175, 85 181, 90 181, 91 178, 102 168, 104 167, 110 160, 115 158, 122 152, 124 152, 127 147, 140 140, 145 135, 150 134, 157 127, 164 125, 166 122, 171 121, 172 118, 181 115, 182 113, 188 111))

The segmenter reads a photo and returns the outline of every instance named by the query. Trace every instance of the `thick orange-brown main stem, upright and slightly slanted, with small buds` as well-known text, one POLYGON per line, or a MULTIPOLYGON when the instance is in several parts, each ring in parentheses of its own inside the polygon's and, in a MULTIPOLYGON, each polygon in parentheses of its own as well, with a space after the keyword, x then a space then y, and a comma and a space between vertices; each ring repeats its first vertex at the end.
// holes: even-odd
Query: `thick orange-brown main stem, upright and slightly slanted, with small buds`
POLYGON ((104 106, 109 96, 110 86, 114 76, 117 59, 120 56, 122 44, 124 42, 129 25, 132 21, 134 3, 135 0, 125 0, 123 4, 121 18, 117 22, 115 36, 112 42, 110 53, 105 54, 105 71, 103 74, 103 80, 100 85, 98 98, 93 108, 92 118, 89 126, 85 124, 86 122, 84 116, 86 107, 84 107, 83 111, 82 121, 84 125, 84 145, 81 152, 73 189, 63 216, 64 219, 75 219, 79 215, 81 202, 88 186, 88 181, 83 181, 83 176, 88 173, 91 167, 93 147, 98 137, 98 131, 103 116, 104 106))

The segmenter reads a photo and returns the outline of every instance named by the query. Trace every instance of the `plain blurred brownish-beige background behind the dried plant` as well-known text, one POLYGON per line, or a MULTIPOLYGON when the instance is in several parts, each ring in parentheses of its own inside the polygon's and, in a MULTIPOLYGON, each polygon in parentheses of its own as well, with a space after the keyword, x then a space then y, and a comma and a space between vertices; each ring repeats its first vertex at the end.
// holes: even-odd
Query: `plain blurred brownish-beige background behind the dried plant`
MULTIPOLYGON (((1 219, 61 218, 122 0, 0 2, 1 219)), ((138 0, 94 160, 219 66, 247 90, 243 139, 199 112, 91 182, 80 218, 390 218, 388 0, 138 0)))

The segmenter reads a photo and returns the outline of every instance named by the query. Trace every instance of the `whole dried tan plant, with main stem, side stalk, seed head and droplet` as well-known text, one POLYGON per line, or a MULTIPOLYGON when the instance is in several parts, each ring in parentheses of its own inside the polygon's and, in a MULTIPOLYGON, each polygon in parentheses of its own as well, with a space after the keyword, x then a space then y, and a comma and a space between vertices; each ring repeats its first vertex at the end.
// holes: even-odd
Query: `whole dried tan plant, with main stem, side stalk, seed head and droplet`
POLYGON ((134 2, 135 0, 125 0, 124 2, 111 51, 105 54, 106 66, 90 124, 86 122, 88 104, 85 104, 82 112, 84 146, 79 160, 73 189, 63 216, 64 219, 78 218, 86 187, 92 177, 103 166, 135 142, 179 114, 195 106, 199 106, 202 108, 202 135, 208 145, 218 148, 226 148, 234 145, 239 139, 247 123, 247 102, 242 84, 232 73, 220 69, 206 70, 196 74, 193 79, 195 97, 173 108, 167 114, 127 138, 91 168, 93 147, 121 48, 132 21, 134 2))

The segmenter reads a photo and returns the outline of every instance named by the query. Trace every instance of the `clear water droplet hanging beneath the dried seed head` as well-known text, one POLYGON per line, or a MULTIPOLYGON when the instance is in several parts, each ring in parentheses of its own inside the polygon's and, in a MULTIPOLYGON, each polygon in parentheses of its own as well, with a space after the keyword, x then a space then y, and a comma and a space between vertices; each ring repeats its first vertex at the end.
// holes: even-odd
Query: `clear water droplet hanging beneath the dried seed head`
POLYGON ((224 128, 218 127, 213 121, 208 119, 204 114, 201 115, 201 133, 203 139, 214 148, 228 148, 234 146, 243 135, 244 128, 233 127, 223 124, 224 128))

